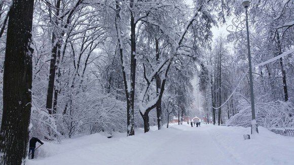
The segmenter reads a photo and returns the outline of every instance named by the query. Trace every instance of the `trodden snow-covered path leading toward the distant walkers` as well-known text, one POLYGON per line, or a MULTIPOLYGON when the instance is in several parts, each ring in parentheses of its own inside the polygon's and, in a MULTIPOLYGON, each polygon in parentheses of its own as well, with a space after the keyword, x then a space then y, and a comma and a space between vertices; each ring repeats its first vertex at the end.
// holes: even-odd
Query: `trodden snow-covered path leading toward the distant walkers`
POLYGON ((162 143, 157 148, 157 152, 146 157, 142 164, 195 164, 195 162, 197 164, 236 164, 229 158, 210 137, 205 126, 187 127, 179 131, 172 139, 162 143), (157 156, 158 153, 166 155, 167 158, 157 156), (150 159, 150 157, 153 158, 150 159), (211 157, 214 158, 211 159, 211 157))

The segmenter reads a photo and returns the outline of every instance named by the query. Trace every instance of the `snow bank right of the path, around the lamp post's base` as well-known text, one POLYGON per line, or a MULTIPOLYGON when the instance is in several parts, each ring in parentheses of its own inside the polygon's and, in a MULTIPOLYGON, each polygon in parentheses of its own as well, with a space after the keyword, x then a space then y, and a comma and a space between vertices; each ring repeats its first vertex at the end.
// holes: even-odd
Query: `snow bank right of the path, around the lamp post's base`
POLYGON ((259 127, 259 134, 243 140, 250 128, 222 127, 214 129, 217 143, 240 164, 293 164, 294 138, 274 134, 259 127))

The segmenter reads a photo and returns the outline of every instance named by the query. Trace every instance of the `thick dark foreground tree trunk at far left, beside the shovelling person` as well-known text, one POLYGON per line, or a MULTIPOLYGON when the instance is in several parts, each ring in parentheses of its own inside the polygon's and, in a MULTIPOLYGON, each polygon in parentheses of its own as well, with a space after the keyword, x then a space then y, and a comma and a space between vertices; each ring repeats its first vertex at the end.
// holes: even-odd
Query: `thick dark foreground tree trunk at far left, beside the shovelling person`
POLYGON ((3 79, 0 164, 24 164, 31 110, 33 0, 13 1, 7 29, 3 79))

